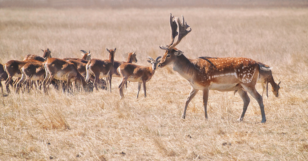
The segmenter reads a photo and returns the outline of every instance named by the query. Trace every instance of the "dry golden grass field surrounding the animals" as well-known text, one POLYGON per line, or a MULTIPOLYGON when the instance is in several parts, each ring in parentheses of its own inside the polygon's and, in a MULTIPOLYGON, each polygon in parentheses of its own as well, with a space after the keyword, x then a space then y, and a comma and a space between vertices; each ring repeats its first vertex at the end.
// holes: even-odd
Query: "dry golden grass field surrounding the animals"
MULTIPOLYGON (((308 160, 307 8, 1 8, 0 62, 27 54, 115 60, 136 51, 163 56, 170 41, 169 14, 184 15, 190 32, 177 48, 188 58, 249 57, 273 67, 279 98, 263 95, 267 122, 251 98, 242 122, 238 94, 209 92, 204 119, 202 92, 181 119, 190 85, 172 67, 158 68, 138 99, 120 78, 112 93, 49 94, 31 91, 0 96, 0 160, 308 160)), ((2 82, 4 85, 4 82, 2 82)), ((259 92, 261 84, 256 85, 259 92)), ((271 86, 269 85, 271 89, 271 86)))

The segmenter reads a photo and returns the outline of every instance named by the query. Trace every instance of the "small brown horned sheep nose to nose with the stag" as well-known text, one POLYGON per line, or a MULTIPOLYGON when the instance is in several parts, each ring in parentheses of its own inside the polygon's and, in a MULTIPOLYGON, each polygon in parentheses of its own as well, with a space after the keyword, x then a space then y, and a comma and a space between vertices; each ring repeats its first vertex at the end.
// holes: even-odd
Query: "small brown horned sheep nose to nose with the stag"
POLYGON ((150 81, 155 73, 156 65, 160 62, 161 57, 153 59, 152 57, 147 57, 151 63, 151 67, 145 67, 140 65, 135 65, 132 63, 124 63, 120 65, 117 69, 118 74, 122 77, 122 82, 119 85, 119 91, 121 99, 124 97, 123 86, 127 81, 138 82, 138 92, 136 98, 138 98, 141 83, 143 84, 144 97, 147 97, 145 83, 150 81))

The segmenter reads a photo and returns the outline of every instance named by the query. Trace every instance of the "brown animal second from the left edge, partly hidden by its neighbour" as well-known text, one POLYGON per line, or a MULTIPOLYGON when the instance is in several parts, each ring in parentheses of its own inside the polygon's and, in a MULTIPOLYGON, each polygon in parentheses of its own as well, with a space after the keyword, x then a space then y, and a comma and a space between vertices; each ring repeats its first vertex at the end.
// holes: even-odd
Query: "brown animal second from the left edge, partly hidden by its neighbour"
MULTIPOLYGON (((19 81, 19 78, 21 77, 21 73, 20 73, 20 69, 23 65, 25 65, 26 63, 29 62, 37 62, 37 63, 41 63, 41 61, 37 61, 37 60, 25 60, 25 61, 17 61, 17 60, 10 60, 8 61, 6 64, 3 65, 3 69, 6 71, 8 78, 5 81, 6 84, 6 92, 10 93, 10 88, 9 88, 9 84, 12 81, 12 78, 18 77, 17 81, 19 81)), ((16 91, 18 92, 18 91, 16 91)))

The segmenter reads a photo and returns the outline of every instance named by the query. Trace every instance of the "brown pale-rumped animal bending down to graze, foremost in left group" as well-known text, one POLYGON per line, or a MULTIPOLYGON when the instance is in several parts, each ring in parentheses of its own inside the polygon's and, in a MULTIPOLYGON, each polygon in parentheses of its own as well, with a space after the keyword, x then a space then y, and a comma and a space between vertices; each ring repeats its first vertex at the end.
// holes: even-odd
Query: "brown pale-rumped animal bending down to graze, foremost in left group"
POLYGON ((53 79, 56 79, 66 81, 66 89, 68 92, 70 92, 70 83, 73 81, 80 82, 83 88, 87 90, 87 84, 74 64, 59 58, 49 58, 43 62, 43 65, 46 72, 43 84, 46 87, 53 79))

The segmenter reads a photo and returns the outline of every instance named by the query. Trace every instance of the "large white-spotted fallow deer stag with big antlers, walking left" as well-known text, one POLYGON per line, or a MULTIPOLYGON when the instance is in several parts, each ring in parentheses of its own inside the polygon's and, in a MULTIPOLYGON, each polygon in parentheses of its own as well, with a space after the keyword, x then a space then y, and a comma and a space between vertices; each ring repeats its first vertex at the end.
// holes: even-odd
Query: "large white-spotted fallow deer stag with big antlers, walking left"
POLYGON ((190 31, 187 30, 190 26, 179 18, 174 18, 170 14, 171 41, 167 46, 160 46, 160 49, 166 50, 164 56, 158 66, 160 68, 173 64, 173 70, 184 77, 191 85, 190 93, 186 99, 182 118, 185 119, 186 109, 189 102, 196 96, 199 90, 203 91, 203 106, 205 119, 207 116, 207 102, 209 90, 217 91, 235 91, 240 94, 244 106, 239 117, 239 121, 243 120, 250 99, 247 92, 253 96, 261 109, 261 122, 266 121, 262 96, 257 92, 255 85, 259 77, 260 65, 249 58, 244 57, 199 57, 197 59, 186 58, 182 51, 175 48, 190 31), (176 31, 178 29, 178 32, 176 31), (173 43, 177 36, 176 42, 173 43))

